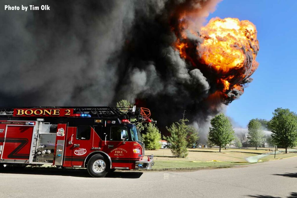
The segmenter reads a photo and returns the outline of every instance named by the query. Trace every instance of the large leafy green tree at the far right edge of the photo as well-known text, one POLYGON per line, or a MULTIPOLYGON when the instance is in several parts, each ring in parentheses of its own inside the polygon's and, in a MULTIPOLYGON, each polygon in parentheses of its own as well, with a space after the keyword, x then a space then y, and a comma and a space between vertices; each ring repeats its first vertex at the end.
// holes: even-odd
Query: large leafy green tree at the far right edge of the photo
POLYGON ((272 113, 273 117, 268 123, 271 137, 276 145, 294 147, 297 144, 297 115, 289 109, 277 108, 272 113))

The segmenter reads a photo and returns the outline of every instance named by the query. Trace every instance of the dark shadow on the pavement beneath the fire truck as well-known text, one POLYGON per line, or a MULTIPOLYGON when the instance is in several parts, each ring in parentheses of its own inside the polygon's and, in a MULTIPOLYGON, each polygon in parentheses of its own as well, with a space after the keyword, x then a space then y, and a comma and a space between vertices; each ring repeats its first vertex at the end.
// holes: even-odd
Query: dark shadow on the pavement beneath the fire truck
MULTIPOLYGON (((86 169, 72 169, 72 168, 12 168, 7 167, 1 170, 1 173, 8 174, 26 174, 26 175, 61 175, 61 176, 71 176, 71 177, 85 177, 91 178, 86 169)), ((142 172, 111 172, 106 177, 107 178, 140 178, 142 172)), ((1 176, 0 176, 1 177, 1 176)))

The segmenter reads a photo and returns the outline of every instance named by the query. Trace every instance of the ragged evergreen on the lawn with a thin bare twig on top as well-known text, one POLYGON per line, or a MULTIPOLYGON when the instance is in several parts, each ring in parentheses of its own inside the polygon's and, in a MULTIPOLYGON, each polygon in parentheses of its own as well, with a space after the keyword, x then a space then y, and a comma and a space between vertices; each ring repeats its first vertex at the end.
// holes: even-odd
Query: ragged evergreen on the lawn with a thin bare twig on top
POLYGON ((181 119, 179 122, 172 123, 170 127, 166 127, 170 136, 163 137, 169 143, 172 155, 175 157, 185 158, 188 155, 187 150, 187 135, 189 126, 185 123, 186 119, 181 119))

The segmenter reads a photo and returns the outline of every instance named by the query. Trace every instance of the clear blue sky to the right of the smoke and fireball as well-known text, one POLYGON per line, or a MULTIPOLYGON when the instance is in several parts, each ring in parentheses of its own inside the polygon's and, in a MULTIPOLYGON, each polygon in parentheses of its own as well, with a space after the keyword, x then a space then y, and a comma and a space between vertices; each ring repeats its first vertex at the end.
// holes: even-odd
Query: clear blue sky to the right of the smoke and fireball
POLYGON ((259 67, 253 82, 226 112, 242 127, 252 118, 270 119, 277 107, 297 112, 296 10, 297 1, 225 0, 207 18, 249 20, 257 28, 259 67))

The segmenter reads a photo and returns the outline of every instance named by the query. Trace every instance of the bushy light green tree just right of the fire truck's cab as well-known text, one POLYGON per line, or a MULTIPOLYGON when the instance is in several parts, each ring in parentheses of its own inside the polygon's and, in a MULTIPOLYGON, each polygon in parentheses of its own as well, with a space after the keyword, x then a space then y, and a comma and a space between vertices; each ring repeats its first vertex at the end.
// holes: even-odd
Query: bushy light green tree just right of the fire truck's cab
POLYGON ((152 123, 147 123, 144 128, 146 129, 146 133, 142 134, 143 143, 145 144, 145 148, 149 150, 156 150, 161 147, 161 133, 157 126, 152 123))

